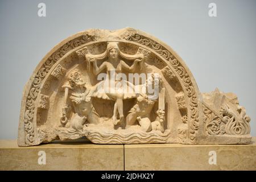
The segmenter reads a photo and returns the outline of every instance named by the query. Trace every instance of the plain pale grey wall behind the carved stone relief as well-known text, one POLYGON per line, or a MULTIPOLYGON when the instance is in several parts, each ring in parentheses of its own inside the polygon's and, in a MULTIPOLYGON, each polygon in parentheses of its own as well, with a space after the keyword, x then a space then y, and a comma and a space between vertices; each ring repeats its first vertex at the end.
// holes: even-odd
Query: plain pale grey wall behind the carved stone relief
POLYGON ((88 28, 138 28, 171 46, 201 92, 237 94, 256 136, 256 1, 0 1, 0 138, 15 139, 23 86, 53 46, 88 28), (46 17, 38 3, 46 3, 46 17), (210 2, 217 17, 208 16, 210 2))

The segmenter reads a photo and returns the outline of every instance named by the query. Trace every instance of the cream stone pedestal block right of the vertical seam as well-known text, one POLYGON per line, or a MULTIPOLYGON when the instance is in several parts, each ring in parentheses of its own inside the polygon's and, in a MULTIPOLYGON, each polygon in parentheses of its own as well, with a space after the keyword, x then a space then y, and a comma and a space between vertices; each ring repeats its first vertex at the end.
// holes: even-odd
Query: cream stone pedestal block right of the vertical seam
POLYGON ((246 145, 126 144, 125 170, 255 171, 255 142, 256 137, 246 145))

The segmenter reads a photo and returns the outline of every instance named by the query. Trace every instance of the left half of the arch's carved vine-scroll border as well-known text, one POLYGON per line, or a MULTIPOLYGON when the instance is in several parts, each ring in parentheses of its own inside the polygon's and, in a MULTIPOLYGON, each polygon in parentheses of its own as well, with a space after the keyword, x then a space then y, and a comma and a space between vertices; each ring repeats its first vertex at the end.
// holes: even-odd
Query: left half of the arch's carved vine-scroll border
POLYGON ((35 131, 32 121, 35 112, 35 101, 38 97, 40 85, 42 84, 44 78, 49 72, 49 69, 51 69, 56 61, 63 57, 68 51, 71 51, 71 49, 94 40, 96 40, 95 36, 82 35, 76 39, 69 41, 68 43, 60 47, 56 52, 54 52, 39 69, 38 73, 36 73, 36 76, 34 77, 30 88, 30 92, 27 96, 26 110, 24 112, 24 129, 26 131, 25 142, 27 144, 32 144, 34 142, 35 131))

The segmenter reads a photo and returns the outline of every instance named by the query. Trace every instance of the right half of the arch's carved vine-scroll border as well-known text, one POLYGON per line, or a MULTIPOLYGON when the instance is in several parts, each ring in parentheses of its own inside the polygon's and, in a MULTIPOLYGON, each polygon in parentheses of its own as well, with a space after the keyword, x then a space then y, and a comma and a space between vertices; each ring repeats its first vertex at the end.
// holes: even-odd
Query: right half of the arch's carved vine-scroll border
POLYGON ((160 44, 156 43, 151 39, 145 38, 142 35, 131 34, 123 37, 123 39, 140 43, 159 53, 160 56, 162 56, 172 65, 172 68, 174 68, 177 75, 179 75, 181 80, 183 80, 183 85, 187 90, 188 97, 190 100, 190 103, 189 103, 189 107, 190 107, 189 109, 191 111, 190 140, 191 142, 196 142, 196 134, 199 129, 199 111, 198 111, 198 104, 197 104, 197 96, 196 96, 195 88, 192 84, 191 78, 189 77, 188 73, 185 71, 185 68, 183 67, 183 65, 181 65, 179 60, 177 60, 176 57, 172 55, 171 52, 167 51, 166 48, 162 47, 160 44))

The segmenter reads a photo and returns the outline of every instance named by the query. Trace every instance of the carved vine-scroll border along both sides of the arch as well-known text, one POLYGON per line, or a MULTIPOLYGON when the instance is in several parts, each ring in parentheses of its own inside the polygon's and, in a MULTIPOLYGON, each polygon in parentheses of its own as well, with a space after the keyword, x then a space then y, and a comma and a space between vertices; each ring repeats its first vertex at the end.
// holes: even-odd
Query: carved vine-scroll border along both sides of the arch
MULTIPOLYGON (((189 103, 190 110, 191 110, 190 139, 191 139, 191 142, 195 142, 196 133, 197 133, 197 130, 199 129, 197 96, 196 96, 195 88, 193 87, 191 78, 189 77, 188 73, 185 71, 185 68, 183 67, 183 65, 181 65, 180 62, 176 59, 176 57, 172 55, 171 52, 167 51, 166 48, 163 48, 160 44, 142 35, 131 34, 131 35, 125 36, 123 39, 140 43, 158 52, 160 56, 162 56, 172 65, 176 73, 180 76, 181 80, 183 80, 183 84, 185 86, 185 89, 187 90, 188 97, 190 99, 190 103, 189 103)), ((63 57, 68 51, 71 51, 71 49, 95 40, 96 40, 96 37, 93 35, 81 35, 78 38, 70 40, 68 43, 64 44, 56 52, 54 52, 43 64, 43 66, 39 69, 38 73, 36 73, 36 76, 32 81, 32 85, 27 96, 26 109, 24 112, 24 129, 26 131, 25 142, 27 144, 32 144, 34 142, 35 131, 34 131, 32 121, 33 121, 34 111, 35 111, 35 101, 36 101, 36 98, 38 97, 40 85, 42 84, 44 77, 46 77, 47 73, 49 72, 49 69, 51 69, 52 66, 56 63, 56 61, 59 60, 61 57, 63 57)))

